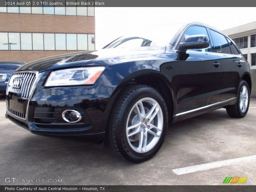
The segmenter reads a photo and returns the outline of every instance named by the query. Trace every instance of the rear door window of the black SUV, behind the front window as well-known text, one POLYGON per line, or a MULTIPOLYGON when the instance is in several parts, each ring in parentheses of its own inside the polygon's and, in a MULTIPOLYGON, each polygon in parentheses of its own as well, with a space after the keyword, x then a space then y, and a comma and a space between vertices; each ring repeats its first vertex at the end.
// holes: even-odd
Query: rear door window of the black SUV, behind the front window
POLYGON ((211 29, 210 29, 210 34, 212 36, 214 49, 217 53, 231 54, 231 50, 225 36, 211 29))

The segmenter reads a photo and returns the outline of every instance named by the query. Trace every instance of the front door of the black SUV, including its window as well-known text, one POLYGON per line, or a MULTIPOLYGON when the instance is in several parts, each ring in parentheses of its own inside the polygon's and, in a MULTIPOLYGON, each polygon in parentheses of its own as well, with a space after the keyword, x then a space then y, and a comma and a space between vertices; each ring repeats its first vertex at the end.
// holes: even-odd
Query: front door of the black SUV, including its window
MULTIPOLYGON (((181 38, 193 35, 208 36, 205 27, 192 26, 187 29, 181 38)), ((209 36, 208 36, 209 38, 209 36)), ((205 49, 177 52, 181 68, 180 113, 197 110, 220 101, 220 74, 219 56, 212 47, 205 49)))

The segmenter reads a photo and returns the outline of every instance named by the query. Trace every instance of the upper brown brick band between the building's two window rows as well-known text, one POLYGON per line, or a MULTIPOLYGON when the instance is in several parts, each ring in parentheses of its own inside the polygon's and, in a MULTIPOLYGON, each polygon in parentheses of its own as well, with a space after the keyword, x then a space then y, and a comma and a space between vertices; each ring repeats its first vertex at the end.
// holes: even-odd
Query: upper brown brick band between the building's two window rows
POLYGON ((95 34, 94 17, 0 13, 0 18, 0 32, 95 34))

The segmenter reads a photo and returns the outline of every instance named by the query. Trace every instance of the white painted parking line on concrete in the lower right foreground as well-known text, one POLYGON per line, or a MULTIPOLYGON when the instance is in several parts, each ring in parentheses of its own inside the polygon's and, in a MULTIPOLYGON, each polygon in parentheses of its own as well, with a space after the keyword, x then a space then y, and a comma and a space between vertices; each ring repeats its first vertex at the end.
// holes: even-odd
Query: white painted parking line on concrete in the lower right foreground
POLYGON ((247 163, 247 162, 256 162, 256 155, 240 157, 235 159, 228 159, 224 161, 216 161, 212 163, 205 163, 205 164, 194 165, 189 167, 183 167, 183 168, 173 169, 172 171, 177 175, 183 175, 187 173, 204 171, 208 169, 214 169, 218 167, 224 167, 224 166, 247 163))

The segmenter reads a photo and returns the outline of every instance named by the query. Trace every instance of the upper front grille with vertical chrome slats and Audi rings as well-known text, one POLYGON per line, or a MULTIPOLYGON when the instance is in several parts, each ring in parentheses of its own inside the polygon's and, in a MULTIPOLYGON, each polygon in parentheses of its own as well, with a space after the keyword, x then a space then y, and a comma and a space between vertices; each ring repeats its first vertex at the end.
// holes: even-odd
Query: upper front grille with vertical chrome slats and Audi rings
POLYGON ((7 94, 8 92, 20 93, 21 97, 26 99, 29 97, 29 93, 35 80, 35 72, 16 72, 10 78, 9 84, 7 86, 7 94))

